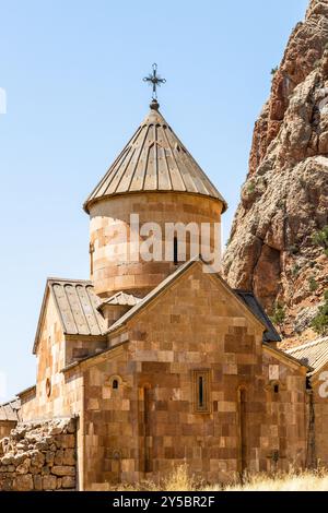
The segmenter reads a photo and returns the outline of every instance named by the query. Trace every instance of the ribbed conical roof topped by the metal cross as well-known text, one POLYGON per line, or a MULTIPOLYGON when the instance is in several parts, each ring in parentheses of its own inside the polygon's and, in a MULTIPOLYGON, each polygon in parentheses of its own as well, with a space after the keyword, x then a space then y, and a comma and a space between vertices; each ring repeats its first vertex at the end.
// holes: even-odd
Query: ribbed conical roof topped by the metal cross
POLYGON ((196 163, 153 102, 151 110, 84 203, 132 192, 190 192, 225 200, 196 163))

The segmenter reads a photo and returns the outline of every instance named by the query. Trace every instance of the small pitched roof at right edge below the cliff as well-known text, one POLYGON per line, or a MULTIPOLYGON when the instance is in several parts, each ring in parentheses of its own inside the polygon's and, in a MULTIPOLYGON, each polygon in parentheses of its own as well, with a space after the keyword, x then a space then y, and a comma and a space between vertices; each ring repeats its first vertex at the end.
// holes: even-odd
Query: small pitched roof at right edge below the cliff
POLYGON ((293 356, 302 363, 314 369, 314 373, 328 363, 328 336, 317 338, 302 346, 286 349, 288 355, 293 356))

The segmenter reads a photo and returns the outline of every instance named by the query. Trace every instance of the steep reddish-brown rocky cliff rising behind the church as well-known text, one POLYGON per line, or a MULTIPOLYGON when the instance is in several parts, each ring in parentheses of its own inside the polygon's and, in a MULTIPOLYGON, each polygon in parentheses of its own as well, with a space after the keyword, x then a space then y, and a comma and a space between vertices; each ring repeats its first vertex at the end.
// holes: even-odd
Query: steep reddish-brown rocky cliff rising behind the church
POLYGON ((234 288, 254 289, 270 313, 279 305, 282 332, 294 335, 328 288, 320 232, 328 225, 328 0, 311 1, 272 74, 224 275, 234 288))

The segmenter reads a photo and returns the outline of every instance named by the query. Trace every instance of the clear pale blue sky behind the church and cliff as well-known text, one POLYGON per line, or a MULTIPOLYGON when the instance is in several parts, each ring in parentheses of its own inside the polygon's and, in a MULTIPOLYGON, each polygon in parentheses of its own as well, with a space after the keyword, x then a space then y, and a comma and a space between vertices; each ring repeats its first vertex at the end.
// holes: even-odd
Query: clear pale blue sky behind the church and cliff
POLYGON ((162 114, 230 204, 226 238, 270 70, 306 5, 0 0, 0 399, 35 383, 46 277, 89 277, 82 203, 145 116, 152 63, 162 114))

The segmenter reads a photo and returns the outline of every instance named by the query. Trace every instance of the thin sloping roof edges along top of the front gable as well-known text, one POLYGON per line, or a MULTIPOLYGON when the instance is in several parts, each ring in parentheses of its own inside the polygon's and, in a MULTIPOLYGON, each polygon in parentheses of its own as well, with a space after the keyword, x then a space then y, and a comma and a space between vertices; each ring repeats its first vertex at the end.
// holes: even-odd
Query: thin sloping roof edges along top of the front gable
MULTIPOLYGON (((156 296, 162 294, 171 284, 173 284, 180 275, 183 275, 189 267, 192 265, 204 262, 200 256, 189 260, 188 262, 180 265, 174 273, 172 273, 167 278, 161 282, 157 287, 155 287, 151 293, 149 293, 141 301, 139 301, 131 310, 125 313, 120 319, 118 319, 112 326, 107 330, 107 333, 113 333, 116 330, 124 326, 130 319, 133 318, 140 310, 142 310, 149 302, 151 302, 156 296)), ((260 307, 259 302, 256 298, 251 295, 251 293, 247 293, 247 295, 253 296, 255 301, 245 301, 244 298, 241 297, 241 291, 235 291, 232 289, 227 283, 219 275, 215 274, 215 277, 224 285, 224 287, 231 291, 236 298, 236 300, 248 311, 253 313, 253 315, 262 324, 263 326, 263 342, 276 342, 277 338, 280 339, 278 333, 276 332, 273 325, 268 320, 263 309, 260 307)), ((246 294, 246 293, 243 293, 246 294)))

